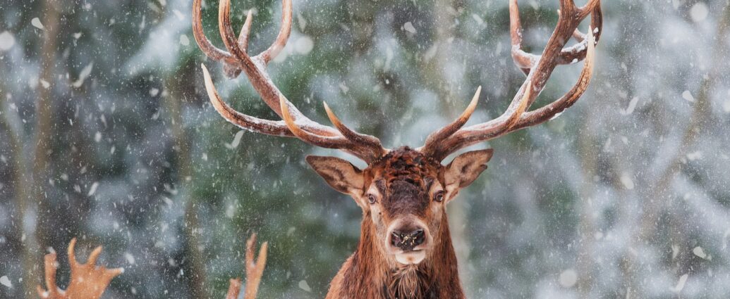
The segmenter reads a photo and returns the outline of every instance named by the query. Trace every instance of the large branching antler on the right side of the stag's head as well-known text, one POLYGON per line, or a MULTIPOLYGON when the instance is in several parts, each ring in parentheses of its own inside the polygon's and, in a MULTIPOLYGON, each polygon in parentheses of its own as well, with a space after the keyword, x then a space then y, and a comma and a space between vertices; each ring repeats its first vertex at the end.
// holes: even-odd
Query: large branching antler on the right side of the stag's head
POLYGON ((510 0, 510 33, 512 35, 512 58, 527 78, 518 89, 507 111, 491 121, 462 128, 476 107, 480 89, 462 115, 446 127, 431 133, 426 143, 419 148, 424 154, 442 160, 460 148, 491 140, 525 127, 541 124, 573 105, 591 81, 595 56, 595 46, 602 30, 601 1, 590 0, 583 7, 575 6, 572 0, 560 0, 558 24, 548 39, 542 55, 532 55, 521 49, 522 28, 517 0, 510 0), (587 34, 577 31, 580 22, 591 15, 591 31, 587 34), (573 36, 578 44, 564 49, 573 36), (534 100, 542 92, 556 65, 575 63, 585 60, 577 83, 558 100, 534 111, 528 111, 534 100))

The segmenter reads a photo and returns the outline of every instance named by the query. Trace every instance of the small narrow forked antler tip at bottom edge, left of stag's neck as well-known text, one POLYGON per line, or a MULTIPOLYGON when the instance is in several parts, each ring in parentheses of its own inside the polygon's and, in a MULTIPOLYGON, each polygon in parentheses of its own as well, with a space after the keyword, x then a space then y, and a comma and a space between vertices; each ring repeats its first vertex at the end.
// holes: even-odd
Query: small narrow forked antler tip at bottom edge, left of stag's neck
MULTIPOLYGON (((258 258, 253 255, 256 244, 256 234, 251 235, 246 242, 246 289, 244 299, 255 299, 258 293, 258 284, 261 283, 261 276, 264 275, 266 267, 266 250, 269 248, 269 242, 261 244, 261 250, 258 251, 258 258), (253 260, 256 260, 254 263, 253 260)), ((231 279, 228 286, 228 294, 226 299, 236 299, 241 292, 241 279, 231 279)))

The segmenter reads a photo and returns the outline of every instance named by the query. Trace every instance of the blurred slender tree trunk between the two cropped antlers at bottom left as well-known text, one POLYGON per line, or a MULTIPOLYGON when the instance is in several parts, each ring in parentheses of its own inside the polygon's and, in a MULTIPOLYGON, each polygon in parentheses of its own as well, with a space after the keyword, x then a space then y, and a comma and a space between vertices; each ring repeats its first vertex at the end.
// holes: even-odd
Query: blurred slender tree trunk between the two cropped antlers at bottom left
POLYGON ((193 175, 193 165, 191 164, 190 140, 185 133, 185 125, 183 124, 183 109, 180 101, 183 100, 179 95, 180 86, 177 85, 177 76, 171 74, 165 79, 165 89, 167 95, 163 96, 164 107, 169 113, 170 129, 172 130, 172 138, 174 140, 174 152, 177 153, 177 188, 180 191, 180 198, 185 203, 185 223, 183 231, 185 233, 184 246, 185 252, 188 254, 189 263, 185 263, 185 272, 188 274, 188 289, 191 298, 210 298, 210 292, 206 292, 206 274, 205 263, 203 262, 202 252, 198 249, 199 224, 197 215, 196 200, 193 198, 191 177, 193 175))

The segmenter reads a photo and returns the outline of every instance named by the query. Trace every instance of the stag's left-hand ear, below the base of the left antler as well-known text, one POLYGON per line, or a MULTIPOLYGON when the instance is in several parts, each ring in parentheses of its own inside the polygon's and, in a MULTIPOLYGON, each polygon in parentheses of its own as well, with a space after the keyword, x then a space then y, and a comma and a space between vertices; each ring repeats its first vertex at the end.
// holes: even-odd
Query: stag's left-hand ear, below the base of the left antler
POLYGON ((307 163, 334 190, 359 196, 364 188, 362 171, 346 160, 333 156, 307 156, 307 163))

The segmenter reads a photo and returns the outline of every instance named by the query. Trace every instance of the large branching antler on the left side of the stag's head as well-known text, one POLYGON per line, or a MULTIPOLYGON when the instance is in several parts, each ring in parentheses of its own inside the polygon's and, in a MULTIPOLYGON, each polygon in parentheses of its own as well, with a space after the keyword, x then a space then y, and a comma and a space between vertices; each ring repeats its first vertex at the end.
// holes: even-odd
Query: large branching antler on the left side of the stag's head
POLYGON ((269 105, 269 108, 277 113, 283 121, 259 119, 231 108, 220 99, 218 91, 210 78, 210 73, 208 73, 205 65, 201 65, 208 97, 210 97, 210 102, 215 110, 227 121, 252 132, 297 137, 312 145, 340 149, 363 159, 365 162, 372 162, 374 159, 383 156, 388 150, 383 148, 380 140, 376 137, 359 134, 345 127, 326 105, 327 114, 334 124, 334 128, 308 119, 282 95, 271 81, 269 74, 266 73, 266 65, 285 47, 289 33, 291 33, 291 0, 284 0, 282 7, 282 26, 276 41, 266 51, 251 57, 247 54, 248 34, 253 20, 251 12, 248 12, 241 33, 237 38, 231 27, 231 1, 220 0, 218 25, 223 44, 226 45, 226 51, 218 49, 205 37, 201 20, 201 0, 193 1, 193 35, 200 49, 212 60, 223 63, 226 76, 234 78, 241 72, 245 73, 253 88, 261 95, 264 103, 269 105))

